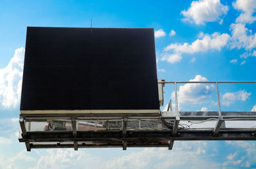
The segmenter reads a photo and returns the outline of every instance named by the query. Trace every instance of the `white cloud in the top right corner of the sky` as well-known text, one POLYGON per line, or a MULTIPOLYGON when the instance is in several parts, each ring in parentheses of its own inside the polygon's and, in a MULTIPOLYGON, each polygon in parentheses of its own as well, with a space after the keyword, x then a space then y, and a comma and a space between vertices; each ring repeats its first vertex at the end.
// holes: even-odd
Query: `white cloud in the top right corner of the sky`
POLYGON ((236 22, 252 24, 256 20, 256 17, 253 16, 256 10, 255 0, 236 0, 232 5, 236 10, 242 11, 236 18, 236 22))

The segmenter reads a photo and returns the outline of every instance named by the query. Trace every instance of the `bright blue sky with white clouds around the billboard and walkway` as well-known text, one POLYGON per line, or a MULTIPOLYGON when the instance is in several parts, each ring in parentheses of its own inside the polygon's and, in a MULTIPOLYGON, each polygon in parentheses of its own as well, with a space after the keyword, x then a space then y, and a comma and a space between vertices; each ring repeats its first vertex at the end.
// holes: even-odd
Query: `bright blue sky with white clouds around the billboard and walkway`
MULTIPOLYGON (((157 76, 256 80, 256 1, 1 1, 0 168, 256 168, 256 142, 175 142, 163 148, 32 149, 18 142, 27 26, 152 27, 157 76)), ((220 85, 221 110, 256 111, 251 84, 220 85)), ((218 110, 213 85, 179 85, 180 110, 218 110)), ((165 104, 173 85, 164 87, 165 104)), ((164 107, 163 107, 164 108, 164 107)), ((162 108, 162 109, 163 109, 162 108)))

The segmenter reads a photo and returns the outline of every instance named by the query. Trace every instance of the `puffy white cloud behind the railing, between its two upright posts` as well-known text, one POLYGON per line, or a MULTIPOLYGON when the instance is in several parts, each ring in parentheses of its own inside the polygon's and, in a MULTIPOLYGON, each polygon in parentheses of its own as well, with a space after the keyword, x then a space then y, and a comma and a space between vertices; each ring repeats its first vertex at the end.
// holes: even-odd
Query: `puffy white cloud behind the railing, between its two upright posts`
MULTIPOLYGON (((189 82, 205 82, 207 78, 196 75, 189 82)), ((212 84, 185 84, 180 85, 177 91, 178 103, 202 103, 211 99, 211 94, 215 87, 212 84)), ((174 92, 172 93, 174 98, 174 92)), ((173 99, 174 100, 174 99, 173 99)))

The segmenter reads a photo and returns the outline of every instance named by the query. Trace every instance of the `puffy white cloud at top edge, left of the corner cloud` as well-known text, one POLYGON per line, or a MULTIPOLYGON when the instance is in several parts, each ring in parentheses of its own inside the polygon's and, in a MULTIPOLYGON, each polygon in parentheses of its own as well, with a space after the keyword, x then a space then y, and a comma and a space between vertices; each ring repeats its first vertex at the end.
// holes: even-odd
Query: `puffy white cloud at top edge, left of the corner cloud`
POLYGON ((199 0, 193 1, 188 10, 181 11, 185 21, 195 22, 195 24, 205 24, 205 22, 215 22, 226 15, 228 6, 220 3, 220 0, 199 0))

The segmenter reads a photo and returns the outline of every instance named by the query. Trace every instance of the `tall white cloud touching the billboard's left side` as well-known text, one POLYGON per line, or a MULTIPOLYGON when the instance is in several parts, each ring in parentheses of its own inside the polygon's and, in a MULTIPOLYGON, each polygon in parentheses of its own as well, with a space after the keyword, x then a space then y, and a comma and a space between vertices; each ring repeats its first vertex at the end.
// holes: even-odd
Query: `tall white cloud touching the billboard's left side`
POLYGON ((8 65, 0 69, 0 104, 4 108, 17 107, 20 99, 24 48, 17 48, 8 65))

